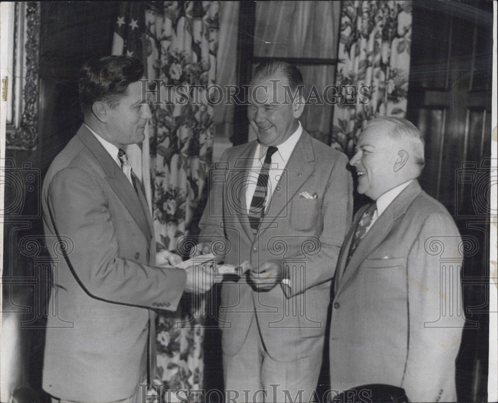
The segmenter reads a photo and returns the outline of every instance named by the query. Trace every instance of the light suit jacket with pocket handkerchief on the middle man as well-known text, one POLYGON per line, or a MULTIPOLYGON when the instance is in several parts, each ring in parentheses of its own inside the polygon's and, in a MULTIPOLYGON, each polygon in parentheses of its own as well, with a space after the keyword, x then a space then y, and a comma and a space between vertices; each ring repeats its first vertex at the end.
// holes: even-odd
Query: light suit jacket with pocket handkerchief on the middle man
POLYGON ((294 361, 324 339, 331 278, 352 216, 351 175, 344 154, 303 131, 253 236, 246 186, 255 147, 253 141, 227 150, 211 171, 199 241, 218 240, 214 249, 229 264, 247 260, 257 268, 268 259, 285 259, 290 298, 279 285, 258 293, 246 278, 225 280, 220 326, 223 352, 232 356, 257 315, 268 354, 294 361), (302 192, 318 198, 305 199, 302 192))

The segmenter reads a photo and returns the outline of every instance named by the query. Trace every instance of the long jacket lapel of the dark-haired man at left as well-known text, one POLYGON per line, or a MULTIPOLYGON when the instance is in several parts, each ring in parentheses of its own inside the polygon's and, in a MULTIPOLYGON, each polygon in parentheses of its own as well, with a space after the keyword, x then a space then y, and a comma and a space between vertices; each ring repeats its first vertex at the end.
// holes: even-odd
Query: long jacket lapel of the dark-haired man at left
POLYGON ((124 206, 136 221, 146 239, 149 240, 151 237, 151 231, 149 229, 149 224, 147 223, 147 214, 144 213, 142 203, 138 199, 133 186, 128 181, 128 178, 126 178, 118 164, 113 160, 106 149, 102 147, 99 140, 95 138, 95 136, 86 128, 85 125, 82 125, 76 135, 95 156, 97 162, 104 170, 107 183, 123 202, 124 206))

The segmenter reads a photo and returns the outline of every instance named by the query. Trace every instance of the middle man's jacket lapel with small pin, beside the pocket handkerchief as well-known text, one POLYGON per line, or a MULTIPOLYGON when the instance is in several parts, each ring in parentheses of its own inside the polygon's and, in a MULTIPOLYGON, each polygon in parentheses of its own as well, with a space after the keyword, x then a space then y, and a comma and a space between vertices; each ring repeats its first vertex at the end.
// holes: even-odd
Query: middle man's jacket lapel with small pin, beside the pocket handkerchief
POLYGON ((303 130, 292 154, 285 165, 282 178, 279 182, 280 190, 276 189, 271 195, 270 203, 264 218, 260 224, 259 231, 271 226, 272 222, 280 216, 284 208, 290 203, 294 195, 308 180, 315 170, 315 154, 311 137, 303 130))

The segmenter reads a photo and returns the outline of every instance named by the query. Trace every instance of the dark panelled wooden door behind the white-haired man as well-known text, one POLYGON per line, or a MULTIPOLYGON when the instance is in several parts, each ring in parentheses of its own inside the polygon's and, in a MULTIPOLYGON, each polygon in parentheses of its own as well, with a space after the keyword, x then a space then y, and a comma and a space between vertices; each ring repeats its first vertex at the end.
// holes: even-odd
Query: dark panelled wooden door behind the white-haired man
POLYGON ((492 2, 414 1, 408 92, 407 117, 426 140, 421 186, 468 241, 457 389, 473 402, 487 399, 492 11, 492 2))

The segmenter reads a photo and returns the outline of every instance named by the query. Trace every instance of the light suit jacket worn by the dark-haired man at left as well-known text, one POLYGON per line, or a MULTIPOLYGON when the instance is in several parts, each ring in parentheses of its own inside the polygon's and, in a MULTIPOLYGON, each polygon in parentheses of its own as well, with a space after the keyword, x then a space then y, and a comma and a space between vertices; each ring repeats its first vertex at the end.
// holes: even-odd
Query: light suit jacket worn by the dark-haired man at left
POLYGON ((149 309, 175 310, 186 274, 153 267, 143 194, 84 125, 52 162, 42 207, 55 310, 43 389, 77 402, 128 398, 146 373, 149 333, 155 340, 149 309))

